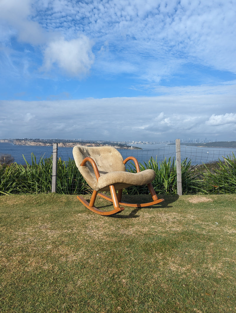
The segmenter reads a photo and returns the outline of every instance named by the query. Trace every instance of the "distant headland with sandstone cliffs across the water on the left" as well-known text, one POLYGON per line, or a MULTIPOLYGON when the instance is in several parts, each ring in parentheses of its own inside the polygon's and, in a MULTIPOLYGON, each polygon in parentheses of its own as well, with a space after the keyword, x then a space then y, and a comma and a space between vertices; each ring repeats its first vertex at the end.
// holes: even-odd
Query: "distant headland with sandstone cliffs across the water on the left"
POLYGON ((53 143, 57 142, 58 147, 74 147, 74 146, 88 146, 88 147, 98 147, 98 146, 112 146, 116 149, 134 149, 142 150, 142 148, 135 146, 128 146, 125 143, 118 141, 90 141, 90 140, 67 140, 67 139, 0 139, 0 143, 12 143, 13 145, 21 146, 52 146, 53 143))

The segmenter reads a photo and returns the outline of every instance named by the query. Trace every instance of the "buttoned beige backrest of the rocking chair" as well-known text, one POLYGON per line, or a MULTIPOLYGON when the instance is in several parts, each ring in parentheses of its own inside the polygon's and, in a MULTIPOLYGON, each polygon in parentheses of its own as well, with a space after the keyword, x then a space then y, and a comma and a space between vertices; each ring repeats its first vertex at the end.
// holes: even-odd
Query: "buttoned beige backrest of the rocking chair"
POLYGON ((125 165, 123 164, 122 155, 118 150, 110 146, 75 146, 73 148, 73 156, 76 162, 76 166, 78 167, 82 176, 93 189, 97 188, 97 178, 91 163, 87 162, 86 166, 80 166, 82 161, 87 156, 90 156, 97 164, 100 176, 109 172, 125 172, 125 165))

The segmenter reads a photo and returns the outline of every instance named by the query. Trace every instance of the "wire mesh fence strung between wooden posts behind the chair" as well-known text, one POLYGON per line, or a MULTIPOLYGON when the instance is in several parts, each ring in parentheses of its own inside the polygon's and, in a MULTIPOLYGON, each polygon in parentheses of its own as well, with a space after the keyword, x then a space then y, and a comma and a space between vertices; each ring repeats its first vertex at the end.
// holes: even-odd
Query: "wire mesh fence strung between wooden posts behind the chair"
MULTIPOLYGON (((146 146, 146 145, 145 145, 146 146)), ((0 194, 51 192, 52 188, 52 146, 13 146, 1 155, 14 158, 11 165, 2 162, 0 166, 0 194)), ((119 150, 119 149, 118 149, 119 150)), ((125 159, 134 156, 145 169, 149 160, 157 165, 155 171, 162 177, 156 181, 155 189, 162 193, 176 193, 176 146, 149 145, 142 150, 119 150, 125 159), (165 172, 164 171, 165 168, 165 172), (174 177, 174 178, 173 178, 174 177), (157 184, 167 188, 160 188, 157 184)), ((183 194, 236 193, 236 151, 230 148, 200 148, 181 146, 181 170, 183 194)), ((152 164, 154 164, 152 163, 152 164)), ((153 165, 152 165, 153 166, 153 165)), ((127 163, 132 170, 132 162, 127 163)), ((157 175, 157 176, 158 176, 157 175)), ((58 148, 57 192, 84 194, 91 189, 81 177, 75 165, 72 148, 58 148)), ((135 189, 137 190, 137 188, 135 189)), ((140 190, 141 192, 141 190, 140 190)))

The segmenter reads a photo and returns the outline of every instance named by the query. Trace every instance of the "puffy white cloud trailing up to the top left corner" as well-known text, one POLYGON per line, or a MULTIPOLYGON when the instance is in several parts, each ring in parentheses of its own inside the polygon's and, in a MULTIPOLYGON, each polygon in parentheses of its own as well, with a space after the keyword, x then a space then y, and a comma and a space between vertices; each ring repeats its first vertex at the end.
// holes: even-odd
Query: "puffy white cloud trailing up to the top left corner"
MULTIPOLYGON (((66 40, 57 30, 46 31, 37 21, 29 19, 33 14, 32 2, 32 0, 3 0, 0 4, 0 17, 16 29, 18 41, 42 49, 45 57, 44 69, 50 70, 54 64, 72 76, 87 74, 94 61, 92 41, 83 34, 80 36, 74 34, 74 38, 66 40)), ((47 3, 43 3, 43 6, 45 4, 47 3)), ((2 27, 6 28, 6 25, 3 23, 2 27)), ((8 33, 10 36, 13 31, 8 33)), ((2 40, 6 41, 8 38, 2 37, 2 40)))

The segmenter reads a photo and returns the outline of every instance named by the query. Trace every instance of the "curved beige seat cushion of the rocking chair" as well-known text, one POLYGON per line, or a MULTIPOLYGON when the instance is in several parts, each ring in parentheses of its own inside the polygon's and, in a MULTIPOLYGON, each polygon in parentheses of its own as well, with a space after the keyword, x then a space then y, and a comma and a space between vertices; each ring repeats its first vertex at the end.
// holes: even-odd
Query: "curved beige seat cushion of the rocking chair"
MULTIPOLYGON (((131 173, 131 172, 109 172, 104 174, 98 178, 98 187, 99 190, 105 190, 106 187, 110 185, 119 185, 123 188, 128 186, 142 186, 149 184, 155 178, 156 174, 153 170, 148 169, 138 173, 131 173), (104 189, 105 188, 105 189, 104 189)), ((117 189, 117 188, 116 188, 117 189)), ((108 188, 109 190, 109 188, 108 188)))

